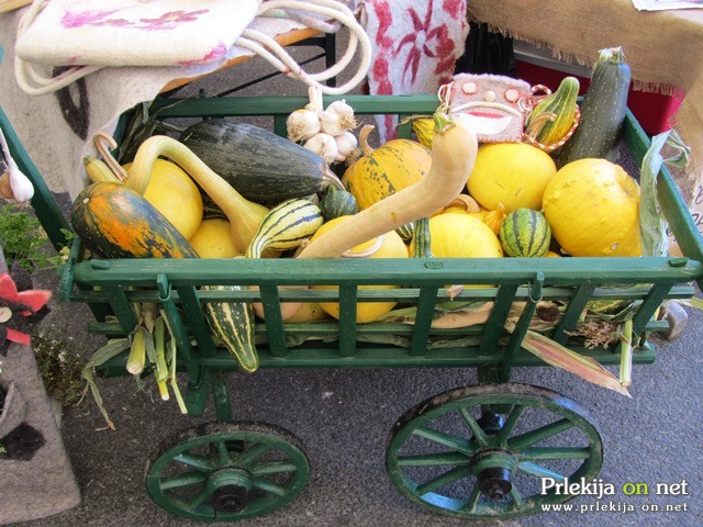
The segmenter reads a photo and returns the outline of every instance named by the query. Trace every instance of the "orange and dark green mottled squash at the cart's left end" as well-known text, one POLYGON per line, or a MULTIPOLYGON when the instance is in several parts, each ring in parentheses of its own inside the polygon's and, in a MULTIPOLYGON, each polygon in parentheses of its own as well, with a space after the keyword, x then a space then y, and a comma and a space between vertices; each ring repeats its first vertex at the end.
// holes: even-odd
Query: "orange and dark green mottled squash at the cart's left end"
POLYGON ((122 183, 86 187, 74 201, 70 224, 86 247, 108 258, 198 258, 154 205, 122 183))

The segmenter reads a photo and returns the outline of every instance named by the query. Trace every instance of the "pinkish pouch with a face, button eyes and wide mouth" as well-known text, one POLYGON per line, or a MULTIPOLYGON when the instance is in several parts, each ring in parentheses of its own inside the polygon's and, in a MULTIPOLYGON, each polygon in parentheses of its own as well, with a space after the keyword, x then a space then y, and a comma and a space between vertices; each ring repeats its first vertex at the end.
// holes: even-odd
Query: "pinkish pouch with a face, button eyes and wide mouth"
POLYGON ((520 101, 529 90, 526 81, 511 77, 460 74, 454 77, 449 110, 470 121, 479 142, 516 143, 525 123, 520 101))

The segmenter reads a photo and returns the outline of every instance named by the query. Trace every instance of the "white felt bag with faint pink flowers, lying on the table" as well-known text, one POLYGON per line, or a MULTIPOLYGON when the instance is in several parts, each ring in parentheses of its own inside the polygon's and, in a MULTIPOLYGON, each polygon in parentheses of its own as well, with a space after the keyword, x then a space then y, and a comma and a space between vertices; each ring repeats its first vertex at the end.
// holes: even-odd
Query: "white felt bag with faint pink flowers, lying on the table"
POLYGON ((223 58, 261 0, 51 0, 18 38, 52 66, 191 66, 223 58))

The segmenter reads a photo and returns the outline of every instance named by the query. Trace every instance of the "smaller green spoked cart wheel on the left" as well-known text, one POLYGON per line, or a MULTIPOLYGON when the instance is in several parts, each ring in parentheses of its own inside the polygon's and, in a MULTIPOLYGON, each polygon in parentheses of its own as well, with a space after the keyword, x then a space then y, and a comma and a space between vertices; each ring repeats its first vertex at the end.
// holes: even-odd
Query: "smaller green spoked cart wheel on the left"
POLYGON ((146 486, 166 511, 231 522, 282 507, 305 486, 310 462, 283 428, 264 423, 208 423, 165 442, 146 486))

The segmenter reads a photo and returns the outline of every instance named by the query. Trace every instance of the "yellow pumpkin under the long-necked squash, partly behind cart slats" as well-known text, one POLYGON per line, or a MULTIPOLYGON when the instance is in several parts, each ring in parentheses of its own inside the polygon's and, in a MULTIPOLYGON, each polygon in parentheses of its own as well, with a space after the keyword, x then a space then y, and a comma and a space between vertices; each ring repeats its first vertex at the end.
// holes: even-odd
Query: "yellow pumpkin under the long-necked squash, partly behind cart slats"
MULTIPOLYGON (((327 231, 334 228, 342 222, 346 222, 353 216, 339 216, 324 223, 322 227, 311 238, 311 243, 319 238, 327 231)), ((373 238, 367 243, 359 244, 352 248, 349 254, 362 254, 367 249, 373 247, 377 244, 378 238, 373 238)), ((408 247, 403 243, 402 238, 391 231, 383 235, 382 243, 376 253, 368 256, 368 258, 408 258, 408 247)), ((398 289, 400 285, 359 285, 359 290, 362 289, 398 289)), ((337 289, 335 285, 311 285, 310 289, 337 289)), ((337 302, 320 302, 320 306, 331 316, 339 318, 339 304, 337 302)), ((395 306, 395 302, 357 302, 356 306, 356 322, 365 323, 372 322, 381 316, 386 315, 395 306)))

